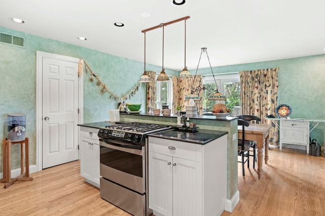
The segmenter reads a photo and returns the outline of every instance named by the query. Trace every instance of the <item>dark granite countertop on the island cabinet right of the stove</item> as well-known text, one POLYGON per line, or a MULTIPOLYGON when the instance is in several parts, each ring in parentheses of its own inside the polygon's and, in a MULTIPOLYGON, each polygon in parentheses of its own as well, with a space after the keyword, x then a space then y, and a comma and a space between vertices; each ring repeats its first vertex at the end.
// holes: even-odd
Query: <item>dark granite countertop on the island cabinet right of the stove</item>
POLYGON ((228 132, 212 131, 212 130, 198 128, 197 132, 185 132, 185 131, 176 131, 175 129, 169 129, 167 131, 149 134, 148 136, 204 145, 225 134, 228 134, 228 132))

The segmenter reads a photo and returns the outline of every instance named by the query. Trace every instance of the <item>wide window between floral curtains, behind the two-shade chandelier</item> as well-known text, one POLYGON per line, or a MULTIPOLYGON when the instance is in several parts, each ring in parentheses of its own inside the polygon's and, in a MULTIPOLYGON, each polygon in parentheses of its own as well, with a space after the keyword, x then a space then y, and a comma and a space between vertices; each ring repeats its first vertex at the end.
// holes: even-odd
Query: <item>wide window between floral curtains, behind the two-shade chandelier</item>
POLYGON ((240 80, 239 74, 222 75, 203 77, 203 84, 207 88, 208 85, 212 87, 212 90, 207 89, 203 92, 203 112, 211 112, 213 106, 216 103, 224 103, 229 109, 233 110, 234 106, 240 106, 240 80), (214 93, 217 83, 219 92, 226 97, 226 101, 209 101, 208 98, 214 93), (210 90, 210 91, 209 91, 210 90))

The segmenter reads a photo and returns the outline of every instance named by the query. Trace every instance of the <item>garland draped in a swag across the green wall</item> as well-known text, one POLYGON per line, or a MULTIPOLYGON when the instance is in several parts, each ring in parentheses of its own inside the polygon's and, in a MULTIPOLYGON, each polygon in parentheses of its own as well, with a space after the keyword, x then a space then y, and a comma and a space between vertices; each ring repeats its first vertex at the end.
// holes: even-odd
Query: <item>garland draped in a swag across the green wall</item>
POLYGON ((131 96, 136 95, 137 91, 139 91, 139 87, 140 87, 140 82, 138 82, 136 84, 136 86, 129 91, 127 94, 122 95, 121 97, 118 97, 116 94, 114 94, 109 88, 108 86, 102 82, 102 80, 99 78, 98 75, 96 75, 92 69, 90 68, 89 64, 84 60, 84 59, 80 59, 79 64, 78 64, 78 74, 79 76, 82 73, 82 68, 84 68, 86 74, 89 73, 89 81, 93 82, 94 81, 94 77, 97 79, 96 85, 98 85, 98 87, 100 87, 100 93, 102 95, 104 95, 106 92, 108 92, 110 94, 110 99, 114 99, 115 101, 125 101, 127 98, 131 99, 131 96), (85 63, 85 65, 83 65, 83 63, 85 63))

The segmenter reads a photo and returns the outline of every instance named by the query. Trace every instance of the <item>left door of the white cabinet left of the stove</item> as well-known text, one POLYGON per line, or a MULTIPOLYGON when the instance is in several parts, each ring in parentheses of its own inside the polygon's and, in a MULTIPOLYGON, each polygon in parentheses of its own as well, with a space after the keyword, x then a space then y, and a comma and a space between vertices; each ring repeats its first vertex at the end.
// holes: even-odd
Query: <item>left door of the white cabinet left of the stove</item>
POLYGON ((91 179, 92 176, 92 140, 90 138, 81 137, 81 158, 80 171, 81 176, 86 179, 91 179))

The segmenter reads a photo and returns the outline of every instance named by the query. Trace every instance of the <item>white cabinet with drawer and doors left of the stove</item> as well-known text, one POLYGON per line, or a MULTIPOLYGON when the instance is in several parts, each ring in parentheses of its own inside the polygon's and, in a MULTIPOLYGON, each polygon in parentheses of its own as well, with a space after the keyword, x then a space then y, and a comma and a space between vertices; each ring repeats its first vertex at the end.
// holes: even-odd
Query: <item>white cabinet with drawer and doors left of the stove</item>
POLYGON ((100 187, 100 142, 98 128, 80 126, 80 174, 86 182, 100 187))

